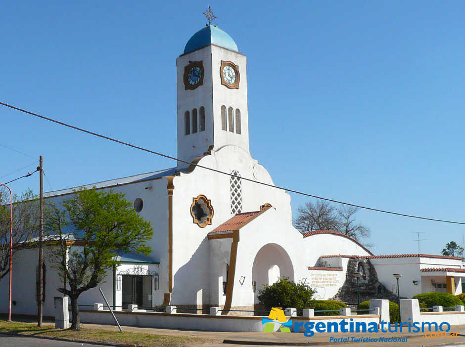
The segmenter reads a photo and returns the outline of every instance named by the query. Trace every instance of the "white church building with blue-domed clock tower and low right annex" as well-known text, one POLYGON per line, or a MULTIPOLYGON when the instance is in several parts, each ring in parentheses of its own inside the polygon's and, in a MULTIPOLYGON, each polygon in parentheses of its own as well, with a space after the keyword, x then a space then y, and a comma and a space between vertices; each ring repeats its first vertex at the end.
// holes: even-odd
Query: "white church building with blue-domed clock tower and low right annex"
MULTIPOLYGON (((208 25, 189 39, 176 65, 181 161, 175 168, 86 186, 124 193, 153 227, 148 242, 152 253, 118 254, 121 265, 109 271, 100 286, 110 304, 117 310, 130 304, 144 309, 161 304, 220 306, 225 313, 254 310, 260 288, 279 277, 309 283, 317 298, 331 299, 352 280, 350 266, 359 263, 362 269, 376 268, 377 282, 395 293, 392 273, 402 271, 396 270, 398 260, 405 266, 406 257, 379 258, 343 234, 302 234, 293 227, 290 196, 274 188, 271 175, 250 155, 247 62, 233 39, 208 25)), ((72 194, 70 188, 47 193, 46 198, 60 202, 72 194)), ((401 296, 430 291, 431 276, 436 276, 434 283, 446 283, 444 289, 449 283, 454 294, 462 292, 460 259, 422 256, 408 258, 416 264, 405 270, 415 277, 408 281, 419 285, 412 284, 413 289, 401 296), (425 268, 436 270, 421 270, 425 268)), ((60 279, 47 261, 47 250, 45 258, 44 314, 53 316, 53 297, 61 296, 56 291, 60 279)), ((15 257, 13 314, 36 314, 36 266, 37 250, 15 257)), ((7 290, 4 279, 3 298, 7 290)), ((79 298, 80 305, 100 302, 97 288, 79 298)), ((0 312, 7 312, 7 305, 3 299, 0 312)))

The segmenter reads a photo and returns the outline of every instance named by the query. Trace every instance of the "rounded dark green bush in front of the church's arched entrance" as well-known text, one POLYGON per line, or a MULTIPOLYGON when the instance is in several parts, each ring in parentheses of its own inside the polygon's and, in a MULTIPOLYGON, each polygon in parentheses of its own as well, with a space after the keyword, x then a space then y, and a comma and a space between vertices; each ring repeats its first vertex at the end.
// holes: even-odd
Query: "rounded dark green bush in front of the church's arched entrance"
POLYGON ((284 277, 272 285, 265 285, 258 293, 259 303, 266 309, 295 307, 301 310, 311 307, 315 291, 308 284, 294 283, 289 281, 289 277, 284 277))

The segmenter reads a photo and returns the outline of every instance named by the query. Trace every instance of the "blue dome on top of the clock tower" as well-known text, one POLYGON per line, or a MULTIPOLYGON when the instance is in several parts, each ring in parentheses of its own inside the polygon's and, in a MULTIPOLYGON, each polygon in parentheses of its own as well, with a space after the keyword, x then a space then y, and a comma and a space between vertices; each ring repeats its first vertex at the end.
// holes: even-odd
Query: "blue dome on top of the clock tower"
POLYGON ((228 33, 214 25, 208 25, 192 35, 189 41, 187 41, 186 47, 184 47, 184 54, 193 52, 209 44, 216 44, 217 46, 235 50, 236 52, 239 51, 237 44, 228 33))

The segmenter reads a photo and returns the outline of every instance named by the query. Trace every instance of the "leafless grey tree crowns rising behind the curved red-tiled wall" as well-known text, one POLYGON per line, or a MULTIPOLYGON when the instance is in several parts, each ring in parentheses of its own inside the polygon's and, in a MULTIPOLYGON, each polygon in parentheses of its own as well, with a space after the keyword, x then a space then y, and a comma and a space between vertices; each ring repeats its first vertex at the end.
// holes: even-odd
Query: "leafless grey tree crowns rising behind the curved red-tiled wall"
MULTIPOLYGON (((318 200, 315 203, 309 201, 297 209, 297 217, 293 224, 302 233, 315 230, 338 231, 350 236, 357 241, 371 236, 368 226, 358 222, 355 218, 358 208, 342 205, 335 208, 327 201, 318 200)), ((372 243, 364 243, 367 247, 373 247, 372 243)))

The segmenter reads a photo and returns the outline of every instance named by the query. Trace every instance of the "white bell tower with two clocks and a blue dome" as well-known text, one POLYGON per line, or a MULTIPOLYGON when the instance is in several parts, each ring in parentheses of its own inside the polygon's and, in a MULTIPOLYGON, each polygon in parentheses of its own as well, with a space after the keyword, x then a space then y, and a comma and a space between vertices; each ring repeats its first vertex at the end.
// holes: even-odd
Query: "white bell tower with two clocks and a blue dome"
POLYGON ((176 60, 178 158, 191 162, 228 145, 249 152, 246 64, 231 36, 214 25, 186 43, 176 60))

